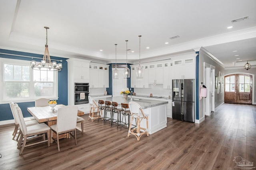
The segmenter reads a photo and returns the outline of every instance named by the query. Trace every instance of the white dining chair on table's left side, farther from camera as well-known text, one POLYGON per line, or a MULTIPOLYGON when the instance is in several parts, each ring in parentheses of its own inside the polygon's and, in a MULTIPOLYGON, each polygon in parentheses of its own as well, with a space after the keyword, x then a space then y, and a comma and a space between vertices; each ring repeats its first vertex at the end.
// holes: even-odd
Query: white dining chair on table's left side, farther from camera
MULTIPOLYGON (((17 133, 19 132, 19 129, 20 129, 18 115, 17 115, 16 110, 15 110, 15 107, 18 106, 18 104, 14 104, 13 102, 9 102, 9 104, 10 104, 10 108, 11 108, 11 111, 12 111, 12 116, 13 116, 14 123, 15 123, 15 128, 14 128, 14 131, 12 133, 12 135, 13 135, 12 139, 14 140, 17 133)), ((26 118, 24 118, 24 121, 25 121, 26 126, 31 126, 31 125, 38 124, 38 122, 36 121, 36 119, 34 117, 26 117, 26 118)), ((20 134, 16 138, 16 141, 18 141, 19 136, 20 136, 20 134)))

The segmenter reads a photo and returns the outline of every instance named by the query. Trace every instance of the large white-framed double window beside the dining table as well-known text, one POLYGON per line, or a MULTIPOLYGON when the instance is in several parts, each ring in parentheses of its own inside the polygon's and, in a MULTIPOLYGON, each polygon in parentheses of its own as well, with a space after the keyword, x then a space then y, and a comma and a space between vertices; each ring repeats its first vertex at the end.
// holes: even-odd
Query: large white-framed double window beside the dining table
POLYGON ((30 61, 0 58, 3 89, 0 100, 30 102, 36 98, 58 99, 58 72, 30 68, 30 61))

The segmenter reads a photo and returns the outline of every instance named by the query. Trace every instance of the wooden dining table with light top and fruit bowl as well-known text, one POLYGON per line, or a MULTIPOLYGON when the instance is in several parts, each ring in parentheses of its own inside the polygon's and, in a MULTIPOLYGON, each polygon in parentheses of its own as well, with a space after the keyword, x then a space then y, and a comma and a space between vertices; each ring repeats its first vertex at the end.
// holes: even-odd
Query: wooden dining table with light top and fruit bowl
MULTIPOLYGON (((46 123, 48 126, 55 125, 57 123, 58 109, 65 107, 63 104, 58 104, 51 110, 50 106, 42 107, 28 107, 28 112, 38 121, 38 123, 46 123)), ((83 111, 78 110, 78 116, 84 115, 83 111)))

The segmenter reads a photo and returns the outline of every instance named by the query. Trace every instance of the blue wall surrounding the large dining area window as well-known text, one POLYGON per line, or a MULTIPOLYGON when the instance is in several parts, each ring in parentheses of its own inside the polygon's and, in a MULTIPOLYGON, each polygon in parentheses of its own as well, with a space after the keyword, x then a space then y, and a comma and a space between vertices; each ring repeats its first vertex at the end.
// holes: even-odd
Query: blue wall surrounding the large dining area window
MULTIPOLYGON (((43 58, 43 55, 40 55, 40 54, 24 53, 24 52, 20 52, 20 51, 11 51, 11 50, 5 50, 5 49, 0 49, 0 53, 13 54, 13 55, 0 54, 1 58, 8 58, 8 59, 31 61, 32 59, 30 57, 43 58), (15 56, 15 55, 24 55, 24 56, 30 56, 30 57, 20 57, 20 56, 15 56)), ((57 102, 58 102, 58 104, 68 105, 68 63, 66 61, 66 58, 51 56, 51 59, 62 60, 62 70, 58 72, 58 97, 59 97, 59 99, 57 102)), ((40 59, 33 59, 33 60, 41 61, 40 59)), ((24 117, 30 117, 31 115, 27 111, 27 107, 34 107, 35 102, 22 102, 22 103, 18 103, 18 105, 20 106, 24 117)), ((10 120, 10 119, 13 119, 10 105, 9 104, 0 104, 0 121, 10 120)))

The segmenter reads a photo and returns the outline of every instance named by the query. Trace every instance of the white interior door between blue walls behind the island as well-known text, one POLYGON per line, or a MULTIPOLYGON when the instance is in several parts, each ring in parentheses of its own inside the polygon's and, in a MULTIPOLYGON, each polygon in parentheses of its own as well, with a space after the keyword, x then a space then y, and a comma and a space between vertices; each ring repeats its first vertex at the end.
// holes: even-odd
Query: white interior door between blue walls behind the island
MULTIPOLYGON (((112 68, 112 71, 115 68, 112 68)), ((127 87, 127 78, 124 78, 124 68, 117 68, 119 72, 119 79, 113 79, 112 76, 112 96, 118 97, 121 96, 120 92, 122 89, 127 87)))

